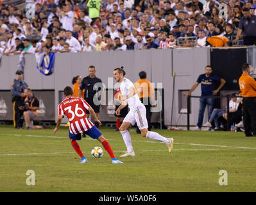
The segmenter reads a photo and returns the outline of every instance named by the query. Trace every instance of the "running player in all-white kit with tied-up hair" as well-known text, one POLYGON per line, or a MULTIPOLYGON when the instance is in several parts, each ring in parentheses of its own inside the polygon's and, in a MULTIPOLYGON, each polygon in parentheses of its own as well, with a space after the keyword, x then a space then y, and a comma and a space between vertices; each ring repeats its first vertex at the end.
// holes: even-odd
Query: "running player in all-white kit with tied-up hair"
POLYGON ((132 147, 131 136, 130 133, 128 132, 128 128, 130 127, 130 125, 134 125, 135 122, 137 123, 137 126, 139 127, 142 136, 150 138, 152 140, 158 140, 160 142, 166 143, 169 152, 172 152, 173 138, 166 138, 153 131, 148 131, 146 108, 144 104, 142 104, 142 102, 140 101, 139 96, 136 94, 135 87, 132 81, 130 81, 127 78, 124 78, 125 74, 126 72, 124 71, 123 67, 114 70, 114 79, 115 81, 120 83, 120 90, 122 94, 122 103, 119 106, 119 108, 115 111, 115 113, 117 115, 120 115, 120 110, 122 110, 127 103, 130 108, 129 113, 126 115, 121 127, 119 128, 119 131, 123 136, 124 143, 127 147, 127 152, 121 155, 120 157, 135 156, 135 152, 133 151, 132 147))

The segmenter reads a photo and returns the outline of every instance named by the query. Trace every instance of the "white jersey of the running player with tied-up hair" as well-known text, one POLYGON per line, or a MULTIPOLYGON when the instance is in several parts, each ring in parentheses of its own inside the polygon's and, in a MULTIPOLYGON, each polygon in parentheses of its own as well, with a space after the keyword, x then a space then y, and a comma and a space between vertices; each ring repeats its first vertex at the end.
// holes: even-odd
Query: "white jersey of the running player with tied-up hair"
MULTIPOLYGON (((130 87, 134 88, 132 81, 130 81, 130 79, 124 78, 120 85, 122 97, 126 97, 126 95, 130 93, 130 90, 129 90, 130 87)), ((138 106, 142 104, 137 94, 133 95, 132 97, 129 97, 126 100, 126 102, 128 102, 128 106, 130 110, 133 112, 137 111, 138 106)))

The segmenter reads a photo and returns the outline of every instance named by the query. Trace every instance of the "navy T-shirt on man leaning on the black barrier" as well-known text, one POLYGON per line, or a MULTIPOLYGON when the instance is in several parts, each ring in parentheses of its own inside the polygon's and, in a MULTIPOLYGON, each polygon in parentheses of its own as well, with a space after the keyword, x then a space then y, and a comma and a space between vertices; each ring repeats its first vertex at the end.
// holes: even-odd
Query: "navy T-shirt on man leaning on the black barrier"
POLYGON ((205 76, 201 74, 196 82, 201 83, 201 96, 213 95, 212 91, 216 90, 216 82, 220 82, 221 78, 218 76, 205 76))

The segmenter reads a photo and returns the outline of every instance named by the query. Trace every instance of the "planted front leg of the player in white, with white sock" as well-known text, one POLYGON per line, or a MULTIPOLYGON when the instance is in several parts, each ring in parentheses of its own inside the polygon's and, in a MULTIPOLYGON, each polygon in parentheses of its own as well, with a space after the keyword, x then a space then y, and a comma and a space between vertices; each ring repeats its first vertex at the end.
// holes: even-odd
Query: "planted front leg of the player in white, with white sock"
MULTIPOLYGON (((126 120, 126 118, 124 118, 124 120, 126 120)), ((120 157, 135 156, 135 152, 133 151, 133 147, 132 147, 132 139, 131 139, 130 133, 128 132, 128 128, 130 126, 131 126, 130 122, 124 121, 121 127, 119 128, 119 131, 123 136, 123 140, 127 148, 126 153, 121 155, 120 157)))

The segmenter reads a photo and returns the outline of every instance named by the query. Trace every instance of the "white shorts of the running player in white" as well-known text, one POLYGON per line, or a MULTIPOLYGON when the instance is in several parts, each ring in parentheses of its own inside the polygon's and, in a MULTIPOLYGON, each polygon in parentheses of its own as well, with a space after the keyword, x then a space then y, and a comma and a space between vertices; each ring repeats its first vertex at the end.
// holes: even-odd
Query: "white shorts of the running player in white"
POLYGON ((129 111, 123 122, 130 122, 133 126, 135 122, 139 129, 148 129, 148 120, 146 118, 146 108, 144 104, 137 108, 137 111, 129 111))

